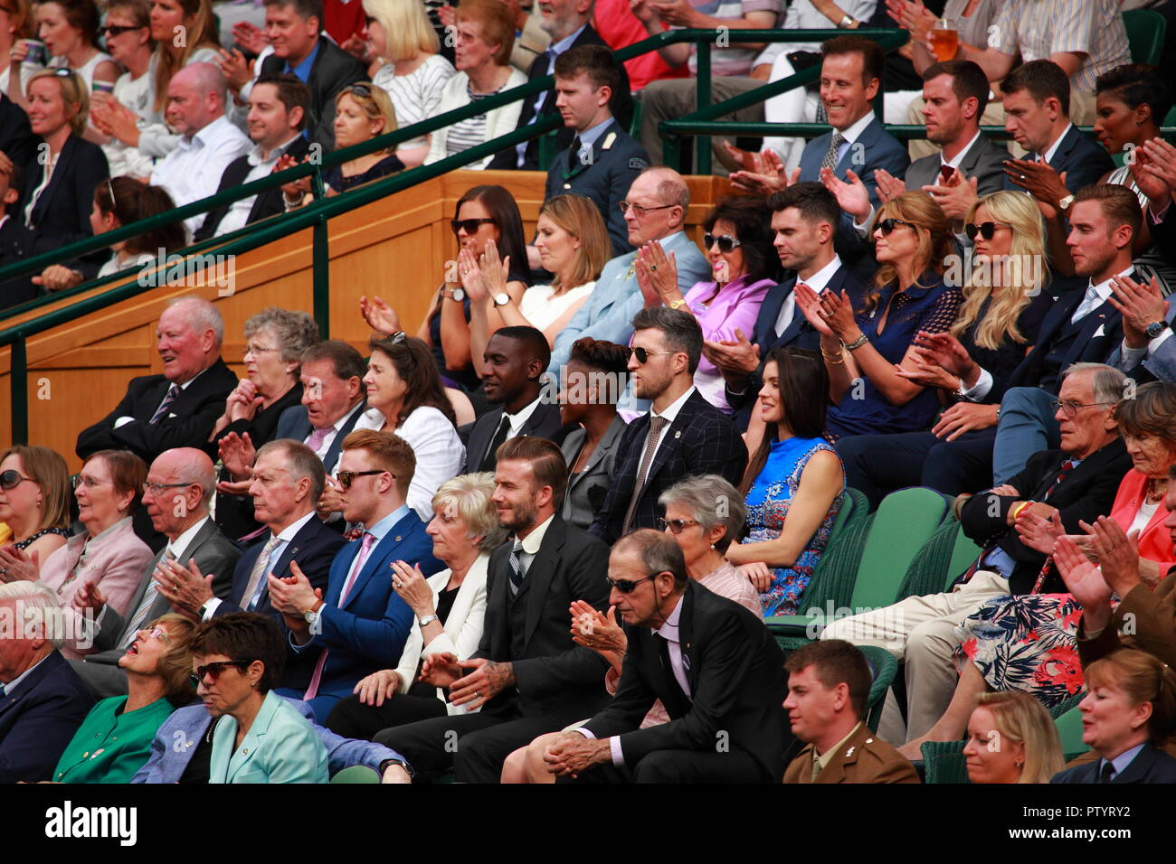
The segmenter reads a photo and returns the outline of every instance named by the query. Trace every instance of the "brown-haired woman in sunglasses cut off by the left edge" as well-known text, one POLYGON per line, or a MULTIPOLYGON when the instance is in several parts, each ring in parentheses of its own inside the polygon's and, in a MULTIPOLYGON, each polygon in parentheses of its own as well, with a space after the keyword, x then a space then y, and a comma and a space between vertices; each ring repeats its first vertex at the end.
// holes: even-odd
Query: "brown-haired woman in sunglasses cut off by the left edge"
POLYGON ((9 535, 0 547, 0 582, 13 578, 8 543, 45 561, 69 536, 69 470, 47 447, 11 447, 0 460, 0 522, 9 535), (4 572, 7 568, 8 572, 4 572))

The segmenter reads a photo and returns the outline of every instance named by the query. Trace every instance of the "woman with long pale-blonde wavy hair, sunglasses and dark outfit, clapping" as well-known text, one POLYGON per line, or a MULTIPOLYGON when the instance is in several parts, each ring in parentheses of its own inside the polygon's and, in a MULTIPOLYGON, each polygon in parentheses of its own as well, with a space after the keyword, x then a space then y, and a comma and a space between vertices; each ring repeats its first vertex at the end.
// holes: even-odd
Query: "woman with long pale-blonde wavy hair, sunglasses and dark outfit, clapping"
MULTIPOLYGON (((962 485, 944 488, 948 475, 936 468, 935 448, 963 435, 965 442, 980 437, 976 430, 996 426, 997 406, 971 400, 1013 374, 1054 302, 1044 290, 1049 280, 1045 226, 1031 196, 1020 192, 985 195, 968 210, 964 229, 974 247, 960 316, 948 330, 920 333, 913 362, 897 373, 911 383, 938 389, 955 403, 930 431, 868 435, 837 446, 849 485, 875 504, 909 485, 933 485, 949 495, 975 491, 962 485), (883 449, 887 457, 878 458, 883 449)), ((991 443, 988 447, 991 451, 991 443)), ((967 474, 950 476, 962 482, 967 474)), ((985 476, 976 482, 982 485, 985 476)))

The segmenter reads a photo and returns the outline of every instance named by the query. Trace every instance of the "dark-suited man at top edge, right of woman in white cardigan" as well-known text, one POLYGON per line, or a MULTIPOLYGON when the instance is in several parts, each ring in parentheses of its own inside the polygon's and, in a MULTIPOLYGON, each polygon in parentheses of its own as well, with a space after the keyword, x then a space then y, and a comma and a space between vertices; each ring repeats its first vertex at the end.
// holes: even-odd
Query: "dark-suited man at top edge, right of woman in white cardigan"
MULTIPOLYGON (((589 22, 593 11, 592 0, 550 0, 540 6, 540 27, 552 38, 552 43, 547 51, 536 56, 527 72, 528 81, 536 81, 555 73, 555 62, 564 52, 582 46, 595 45, 608 48, 604 40, 596 33, 596 28, 589 22)), ((623 129, 628 130, 633 120, 633 95, 630 94, 629 75, 621 67, 621 82, 612 88, 609 105, 612 113, 617 118, 623 129)), ((522 103, 522 112, 519 114, 519 125, 515 128, 522 129, 530 126, 537 119, 550 116, 559 112, 555 105, 556 91, 553 85, 550 89, 542 91, 534 96, 528 96, 522 103)), ((572 129, 563 127, 555 133, 555 149, 564 150, 572 146, 575 134, 572 129)), ((533 138, 517 147, 502 150, 490 160, 488 168, 539 170, 539 139, 533 138)), ((628 252, 628 250, 626 250, 628 252)))

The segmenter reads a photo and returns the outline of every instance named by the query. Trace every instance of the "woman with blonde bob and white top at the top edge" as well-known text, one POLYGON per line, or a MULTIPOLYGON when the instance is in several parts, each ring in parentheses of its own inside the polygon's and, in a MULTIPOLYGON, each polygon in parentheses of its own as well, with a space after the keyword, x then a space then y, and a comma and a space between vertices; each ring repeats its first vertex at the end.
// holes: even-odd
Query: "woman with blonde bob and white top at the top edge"
MULTIPOLYGON (((401 127, 436 116, 441 93, 456 74, 453 63, 441 56, 436 31, 417 0, 363 0, 367 13, 368 74, 382 87, 401 127)), ((429 154, 429 135, 402 141, 396 155, 415 168, 429 154)))

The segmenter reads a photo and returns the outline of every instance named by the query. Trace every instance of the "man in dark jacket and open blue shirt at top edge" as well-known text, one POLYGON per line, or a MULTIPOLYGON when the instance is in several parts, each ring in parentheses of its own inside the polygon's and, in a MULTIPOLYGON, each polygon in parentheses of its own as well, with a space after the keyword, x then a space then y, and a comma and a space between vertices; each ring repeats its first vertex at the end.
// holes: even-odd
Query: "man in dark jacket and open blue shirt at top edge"
POLYGON ((323 38, 321 29, 322 0, 266 0, 266 35, 274 53, 261 63, 261 75, 290 73, 307 86, 308 138, 333 150, 335 96, 368 76, 363 63, 323 38))

